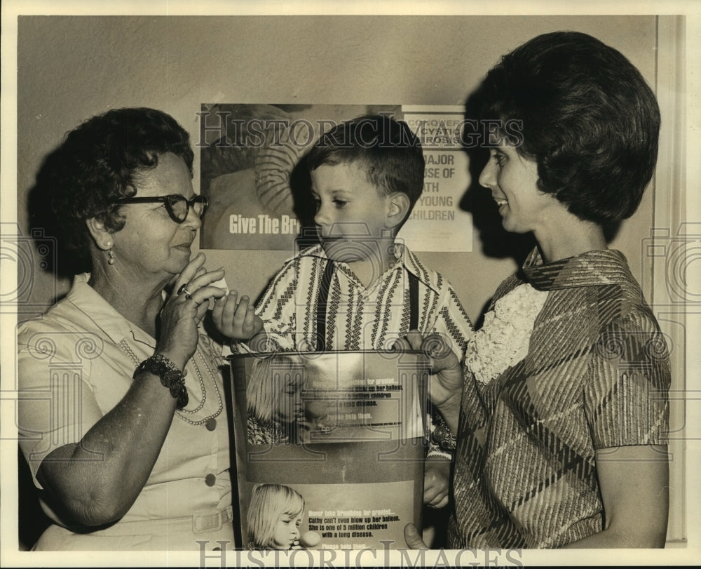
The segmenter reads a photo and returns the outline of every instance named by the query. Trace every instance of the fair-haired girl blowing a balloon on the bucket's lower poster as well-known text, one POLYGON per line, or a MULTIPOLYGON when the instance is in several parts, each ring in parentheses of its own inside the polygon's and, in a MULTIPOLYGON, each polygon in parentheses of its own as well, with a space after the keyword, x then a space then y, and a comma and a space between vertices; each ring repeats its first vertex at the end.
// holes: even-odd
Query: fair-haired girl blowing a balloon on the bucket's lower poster
POLYGON ((259 484, 248 506, 249 549, 302 549, 318 544, 318 533, 300 537, 304 497, 289 486, 259 484))

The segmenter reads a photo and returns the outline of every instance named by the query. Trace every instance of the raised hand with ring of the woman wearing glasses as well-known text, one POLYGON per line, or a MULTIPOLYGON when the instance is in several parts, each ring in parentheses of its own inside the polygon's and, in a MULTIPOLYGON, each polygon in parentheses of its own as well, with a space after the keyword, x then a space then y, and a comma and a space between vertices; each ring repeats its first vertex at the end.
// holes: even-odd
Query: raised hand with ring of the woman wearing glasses
POLYGON ((175 279, 172 293, 161 310, 156 353, 163 354, 181 368, 195 353, 197 326, 207 313, 210 298, 221 298, 226 294, 222 288, 211 286, 222 279, 224 269, 208 272, 203 267, 205 260, 205 255, 198 253, 186 265, 175 279))

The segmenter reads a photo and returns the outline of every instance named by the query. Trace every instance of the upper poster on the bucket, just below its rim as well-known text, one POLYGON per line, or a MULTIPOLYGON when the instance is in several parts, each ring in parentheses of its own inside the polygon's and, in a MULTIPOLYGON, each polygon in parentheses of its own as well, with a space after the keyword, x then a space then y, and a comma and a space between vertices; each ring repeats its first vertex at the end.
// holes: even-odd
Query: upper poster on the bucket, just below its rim
POLYGON ((425 384, 416 368, 395 369, 395 361, 363 352, 251 359, 245 389, 247 443, 420 439, 425 384), (372 370, 366 369, 367 361, 373 361, 372 370))

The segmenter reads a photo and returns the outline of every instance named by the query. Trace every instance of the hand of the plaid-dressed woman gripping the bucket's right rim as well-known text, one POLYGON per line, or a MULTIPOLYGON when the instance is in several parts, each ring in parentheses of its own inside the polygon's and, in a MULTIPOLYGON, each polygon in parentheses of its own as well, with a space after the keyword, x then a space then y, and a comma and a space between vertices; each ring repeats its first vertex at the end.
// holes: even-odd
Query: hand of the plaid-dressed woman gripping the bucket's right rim
POLYGON ((428 356, 430 374, 435 376, 435 381, 428 384, 428 395, 455 433, 463 393, 463 370, 458 356, 439 335, 423 338, 418 330, 409 330, 406 337, 397 340, 395 347, 421 351, 428 356))

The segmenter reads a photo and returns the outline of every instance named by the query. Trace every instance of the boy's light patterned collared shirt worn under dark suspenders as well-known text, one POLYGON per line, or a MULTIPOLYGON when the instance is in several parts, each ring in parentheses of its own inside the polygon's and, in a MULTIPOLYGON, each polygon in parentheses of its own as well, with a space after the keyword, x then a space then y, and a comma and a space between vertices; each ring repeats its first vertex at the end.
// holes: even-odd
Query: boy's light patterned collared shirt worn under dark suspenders
MULTIPOLYGON (((395 244, 397 262, 365 288, 349 265, 335 262, 327 295, 327 351, 391 349, 409 332, 409 272, 418 279, 418 330, 441 335, 461 361, 472 324, 444 277, 395 244)), ((257 304, 275 349, 314 350, 318 301, 329 258, 320 245, 287 260, 257 304)))

